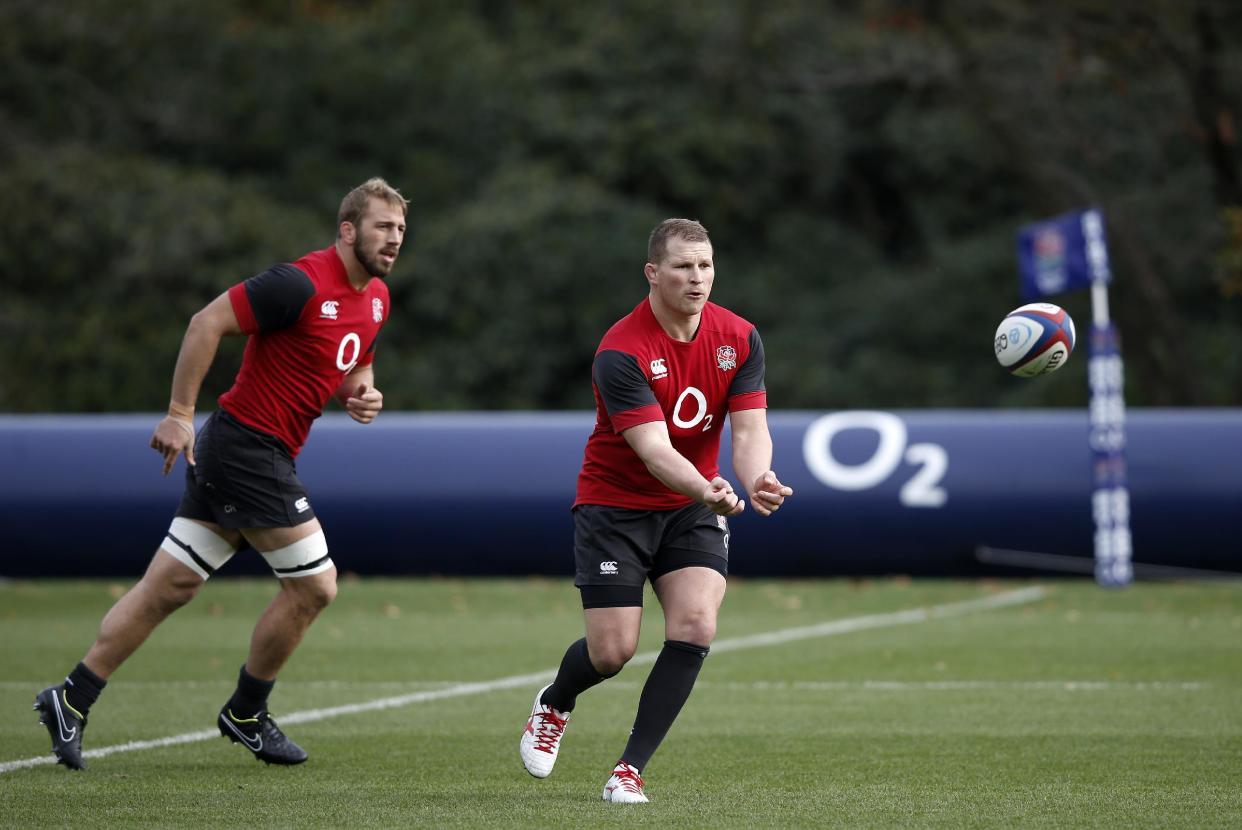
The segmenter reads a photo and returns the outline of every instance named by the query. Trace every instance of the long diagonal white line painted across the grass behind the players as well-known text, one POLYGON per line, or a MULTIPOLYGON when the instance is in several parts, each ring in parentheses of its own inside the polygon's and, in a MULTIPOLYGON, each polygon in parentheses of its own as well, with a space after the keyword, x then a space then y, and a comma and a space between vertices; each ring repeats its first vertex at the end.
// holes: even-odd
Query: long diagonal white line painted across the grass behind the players
MULTIPOLYGON (((1025 605, 1028 603, 1035 603, 1043 599, 1045 590, 1042 588, 1022 588, 1020 590, 1006 591, 1004 594, 992 594, 990 596, 984 596, 980 599, 970 599, 960 603, 948 603, 945 605, 932 605, 928 608, 912 608, 905 611, 891 611, 887 614, 868 614, 866 616, 853 616, 843 620, 832 620, 831 622, 821 622, 818 625, 806 625, 795 629, 781 629, 779 631, 769 631, 768 634, 754 634, 744 637, 730 637, 727 640, 718 640, 712 644, 712 651, 719 654, 723 651, 738 651, 741 649, 759 649, 763 646, 776 646, 786 642, 794 642, 796 640, 810 640, 815 637, 828 637, 837 634, 850 634, 852 631, 864 631, 867 629, 878 629, 889 625, 908 625, 910 622, 927 622, 929 620, 938 620, 953 616, 963 616, 965 614, 974 614, 976 611, 986 611, 995 608, 1006 608, 1010 605, 1025 605)), ((658 651, 647 651, 640 655, 635 655, 633 659, 627 664, 630 666, 641 666, 643 664, 655 662, 656 657, 660 655, 658 651)), ((468 697, 471 695, 483 695, 487 692, 494 692, 503 688, 523 688, 523 687, 535 687, 537 683, 543 683, 553 677, 555 677, 555 670, 544 670, 532 672, 529 675, 513 675, 509 677, 501 677, 497 680, 481 681, 474 683, 460 683, 450 686, 446 688, 424 691, 424 692, 411 692, 409 695, 397 695, 395 697, 381 697, 374 701, 365 701, 363 703, 347 703, 344 706, 332 706, 323 709, 307 709, 304 712, 292 712, 289 714, 281 716, 282 724, 292 723, 310 723, 313 721, 325 721, 328 718, 340 717, 343 714, 360 714, 363 712, 378 712, 381 709, 392 709, 404 706, 410 706, 412 703, 426 703, 428 701, 438 701, 451 697, 468 697)), ((139 749, 158 749, 161 747, 175 747, 183 743, 199 743, 201 741, 210 741, 220 734, 219 729, 201 729, 199 732, 185 732, 183 734, 174 734, 166 738, 155 738, 152 741, 130 741, 128 743, 118 743, 111 747, 101 747, 98 749, 87 749, 82 753, 84 758, 104 758, 107 755, 116 754, 118 752, 135 752, 139 749)), ((19 760, 7 760, 0 763, 0 774, 12 772, 15 769, 22 769, 26 767, 41 767, 43 764, 55 764, 55 755, 40 755, 39 758, 22 758, 19 760)))

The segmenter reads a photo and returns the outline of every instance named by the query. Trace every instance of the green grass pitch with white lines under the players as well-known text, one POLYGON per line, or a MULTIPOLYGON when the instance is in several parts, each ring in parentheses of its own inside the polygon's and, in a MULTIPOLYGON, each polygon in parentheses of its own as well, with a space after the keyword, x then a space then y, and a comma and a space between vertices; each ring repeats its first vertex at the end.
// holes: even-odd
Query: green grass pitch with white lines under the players
MULTIPOLYGON (((719 647, 645 770, 647 805, 600 801, 641 659, 579 700, 551 778, 518 760, 533 675, 580 636, 568 580, 343 580, 272 698, 310 753, 298 768, 194 734, 273 591, 214 580, 86 732, 93 750, 185 742, 84 773, 25 764, 51 757, 35 692, 123 589, 0 586, 4 826, 1242 826, 1237 584, 734 580, 719 647), (961 605, 981 598, 995 605, 961 605)), ((646 622, 640 655, 662 639, 651 601, 646 622)))

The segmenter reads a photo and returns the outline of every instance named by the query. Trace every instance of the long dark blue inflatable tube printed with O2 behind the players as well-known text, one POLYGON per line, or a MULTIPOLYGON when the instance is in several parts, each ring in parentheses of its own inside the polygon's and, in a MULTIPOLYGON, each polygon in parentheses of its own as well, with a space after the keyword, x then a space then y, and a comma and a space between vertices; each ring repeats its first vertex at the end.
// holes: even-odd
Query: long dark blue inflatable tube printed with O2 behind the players
MULTIPOLYGON (((771 518, 729 519, 729 573, 1016 573, 986 549, 1087 575, 1102 531, 1117 554, 1133 531, 1140 578, 1242 572, 1242 409, 1130 410, 1124 436, 1109 426, 1119 415, 1107 401, 1090 415, 771 411, 773 468, 795 496, 771 518), (1122 441, 1128 471, 1114 466, 1122 441)), ((185 462, 161 476, 148 446, 159 417, 0 415, 0 575, 142 574, 184 486, 185 462)), ((384 413, 368 426, 330 413, 298 477, 342 573, 573 579, 569 508, 594 425, 591 411, 384 413)), ((728 435, 722 446, 737 483, 728 435)), ((1118 581, 1130 567, 1103 562, 1118 581)), ((271 572, 243 552, 222 573, 271 572)))

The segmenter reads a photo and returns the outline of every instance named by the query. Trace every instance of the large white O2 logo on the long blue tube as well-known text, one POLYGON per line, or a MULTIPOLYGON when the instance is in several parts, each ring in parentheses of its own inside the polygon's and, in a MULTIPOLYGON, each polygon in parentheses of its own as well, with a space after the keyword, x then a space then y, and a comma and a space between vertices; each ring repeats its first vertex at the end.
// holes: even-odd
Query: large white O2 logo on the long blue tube
POLYGON ((905 507, 944 507, 949 495, 940 481, 949 470, 949 454, 939 444, 909 444, 905 421, 892 413, 854 410, 815 419, 802 436, 802 460, 820 483, 833 490, 871 490, 897 472, 898 465, 919 465, 902 485, 898 501, 905 507), (879 437, 871 457, 842 463, 832 455, 832 439, 845 430, 872 430, 879 437))

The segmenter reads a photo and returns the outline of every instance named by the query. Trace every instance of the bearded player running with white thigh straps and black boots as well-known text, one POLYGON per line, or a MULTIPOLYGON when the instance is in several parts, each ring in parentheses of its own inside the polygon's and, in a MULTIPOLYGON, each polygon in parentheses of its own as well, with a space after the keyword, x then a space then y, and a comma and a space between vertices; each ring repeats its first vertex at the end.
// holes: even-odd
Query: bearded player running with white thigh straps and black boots
POLYGON ((237 688, 216 724, 260 760, 307 759, 272 719, 267 698, 310 622, 335 596, 337 568, 294 458, 332 398, 360 424, 384 405, 373 360, 389 316, 384 277, 401 250, 406 208, 383 179, 363 183, 342 200, 334 245, 232 286, 190 319, 168 416, 150 440, 164 475, 185 456, 185 491, 142 580, 103 618, 65 682, 35 698, 60 763, 86 768, 82 732, 108 678, 246 545, 267 560, 279 591, 255 626, 237 688), (195 434, 195 404, 216 348, 221 338, 243 334, 237 378, 195 434))

